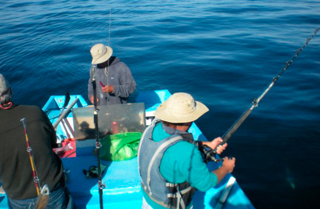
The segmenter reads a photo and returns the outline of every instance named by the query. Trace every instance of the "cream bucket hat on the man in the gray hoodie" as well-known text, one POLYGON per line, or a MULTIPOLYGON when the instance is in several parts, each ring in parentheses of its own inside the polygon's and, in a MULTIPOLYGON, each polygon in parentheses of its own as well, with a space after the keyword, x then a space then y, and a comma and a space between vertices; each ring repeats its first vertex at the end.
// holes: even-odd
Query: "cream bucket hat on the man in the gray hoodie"
POLYGON ((95 44, 91 50, 92 62, 91 64, 100 64, 107 61, 112 55, 112 48, 102 43, 95 44))

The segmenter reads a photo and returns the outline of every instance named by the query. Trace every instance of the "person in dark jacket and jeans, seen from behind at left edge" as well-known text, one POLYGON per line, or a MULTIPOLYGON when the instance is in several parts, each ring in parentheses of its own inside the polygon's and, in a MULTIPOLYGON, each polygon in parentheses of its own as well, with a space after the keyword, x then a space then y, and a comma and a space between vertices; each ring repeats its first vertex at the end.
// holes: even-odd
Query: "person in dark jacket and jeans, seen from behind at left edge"
POLYGON ((11 98, 9 82, 0 74, 0 182, 9 208, 34 208, 38 197, 22 118, 27 120, 40 186, 47 184, 50 190, 46 208, 75 208, 64 186, 62 162, 52 150, 57 139, 50 120, 39 107, 16 105, 11 98))

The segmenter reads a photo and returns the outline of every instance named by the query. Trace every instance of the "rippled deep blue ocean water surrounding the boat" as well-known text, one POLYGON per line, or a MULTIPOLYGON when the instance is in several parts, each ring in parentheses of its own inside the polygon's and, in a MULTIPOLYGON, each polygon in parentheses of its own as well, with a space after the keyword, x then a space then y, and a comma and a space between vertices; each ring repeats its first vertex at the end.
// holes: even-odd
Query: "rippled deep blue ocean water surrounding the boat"
MULTIPOLYGON (((136 92, 188 92, 206 104, 210 111, 196 123, 209 140, 229 129, 320 27, 320 1, 0 5, 0 73, 10 81, 15 103, 42 107, 51 95, 66 91, 86 98, 89 50, 101 42, 131 68, 136 92)), ((318 203, 319 92, 320 32, 222 155, 236 157, 233 175, 256 208, 318 203)))

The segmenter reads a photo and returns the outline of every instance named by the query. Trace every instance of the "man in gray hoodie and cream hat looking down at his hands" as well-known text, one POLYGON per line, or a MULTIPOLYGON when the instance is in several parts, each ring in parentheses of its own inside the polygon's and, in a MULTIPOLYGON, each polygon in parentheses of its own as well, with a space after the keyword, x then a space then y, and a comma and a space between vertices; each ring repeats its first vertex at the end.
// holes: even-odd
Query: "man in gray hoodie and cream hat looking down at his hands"
MULTIPOLYGON (((126 104, 137 84, 130 68, 119 58, 111 56, 112 48, 102 43, 91 50, 92 66, 95 69, 96 97, 99 105, 126 104)), ((88 98, 93 104, 92 70, 88 81, 88 98)))

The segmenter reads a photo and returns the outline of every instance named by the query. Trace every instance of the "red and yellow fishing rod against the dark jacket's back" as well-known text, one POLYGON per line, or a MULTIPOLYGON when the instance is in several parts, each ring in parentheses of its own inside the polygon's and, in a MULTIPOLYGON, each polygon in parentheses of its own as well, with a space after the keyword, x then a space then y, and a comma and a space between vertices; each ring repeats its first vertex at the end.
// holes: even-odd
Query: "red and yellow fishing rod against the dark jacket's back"
POLYGON ((22 125, 23 125, 24 136, 26 136, 27 152, 29 155, 30 164, 31 164, 31 168, 32 168, 33 181, 35 183, 35 187, 36 187, 36 191, 37 191, 37 195, 38 195, 35 208, 36 209, 43 209, 46 207, 46 205, 49 201, 50 191, 49 191, 47 184, 44 184, 43 187, 41 187, 40 182, 39 182, 39 177, 38 177, 38 173, 36 170, 36 165, 35 165, 34 158, 32 155, 32 149, 30 146, 29 137, 28 137, 28 133, 27 133, 27 120, 26 120, 26 118, 22 118, 20 121, 22 122, 22 125))

